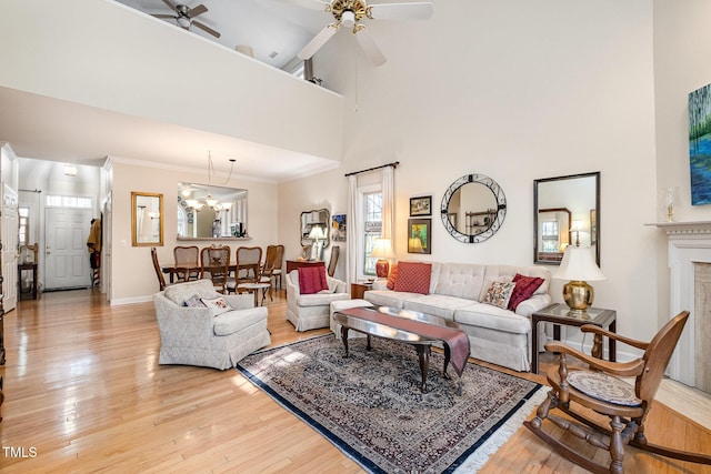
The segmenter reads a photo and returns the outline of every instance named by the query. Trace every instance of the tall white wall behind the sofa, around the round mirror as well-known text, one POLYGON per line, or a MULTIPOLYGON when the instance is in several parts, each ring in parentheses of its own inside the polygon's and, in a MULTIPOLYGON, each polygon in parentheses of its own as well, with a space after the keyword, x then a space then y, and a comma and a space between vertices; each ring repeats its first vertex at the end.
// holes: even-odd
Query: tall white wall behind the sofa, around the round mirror
MULTIPOLYGON (((399 259, 409 258, 410 196, 432 194, 429 259, 532 264, 533 180, 600 171, 608 281, 594 284, 595 305, 618 311, 618 331, 650 337, 657 302, 640 295, 654 288, 657 262, 657 230, 643 225, 657 189, 651 2, 438 2, 427 22, 371 24, 383 67, 341 34, 314 60, 347 98, 344 158, 338 171, 280 185, 281 222, 317 202, 344 210, 344 172, 399 160, 399 259), (508 201, 501 230, 479 244, 457 242, 438 213, 467 173, 493 178, 508 201)), ((280 229, 283 242, 297 235, 280 229)))

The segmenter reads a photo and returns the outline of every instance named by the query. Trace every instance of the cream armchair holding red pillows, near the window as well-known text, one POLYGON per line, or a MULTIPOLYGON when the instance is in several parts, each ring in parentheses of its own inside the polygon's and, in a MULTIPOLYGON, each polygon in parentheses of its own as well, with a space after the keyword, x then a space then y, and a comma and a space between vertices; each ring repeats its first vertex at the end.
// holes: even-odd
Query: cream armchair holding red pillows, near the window
POLYGON ((326 276, 328 290, 312 294, 301 294, 299 269, 292 270, 284 280, 287 280, 287 320, 297 331, 329 327, 331 302, 351 299, 346 282, 328 275, 326 276))

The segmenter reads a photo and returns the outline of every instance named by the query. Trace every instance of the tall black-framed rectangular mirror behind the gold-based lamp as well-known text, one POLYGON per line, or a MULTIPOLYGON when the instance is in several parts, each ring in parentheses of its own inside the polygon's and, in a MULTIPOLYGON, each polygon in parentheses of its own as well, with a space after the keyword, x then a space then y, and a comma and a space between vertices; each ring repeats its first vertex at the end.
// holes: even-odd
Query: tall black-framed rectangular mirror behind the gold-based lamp
POLYGON ((560 265, 568 245, 592 246, 600 265, 600 172, 533 181, 533 261, 560 265))

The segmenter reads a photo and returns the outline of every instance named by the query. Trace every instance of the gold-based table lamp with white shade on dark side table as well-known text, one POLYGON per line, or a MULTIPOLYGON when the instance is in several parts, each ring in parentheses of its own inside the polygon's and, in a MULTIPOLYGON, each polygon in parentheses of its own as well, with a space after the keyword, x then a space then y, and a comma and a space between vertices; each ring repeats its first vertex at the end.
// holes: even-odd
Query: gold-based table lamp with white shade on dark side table
POLYGON ((570 280, 563 285, 563 300, 577 313, 584 313, 592 305, 594 291, 588 281, 607 280, 602 274, 590 246, 569 245, 560 268, 553 274, 555 280, 570 280))

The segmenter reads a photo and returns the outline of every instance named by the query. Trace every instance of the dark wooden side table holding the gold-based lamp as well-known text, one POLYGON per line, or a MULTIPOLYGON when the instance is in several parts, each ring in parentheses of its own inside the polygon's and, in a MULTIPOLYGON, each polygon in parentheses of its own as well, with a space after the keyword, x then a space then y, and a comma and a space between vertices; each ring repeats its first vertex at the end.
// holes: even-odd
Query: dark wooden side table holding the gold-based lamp
MULTIPOLYGON (((614 310, 604 310, 599 307, 588 307, 585 313, 575 313, 568 307, 567 304, 553 303, 548 307, 531 314, 531 372, 538 374, 538 323, 553 323, 553 339, 560 341, 560 326, 580 327, 585 324, 594 324, 610 332, 617 332, 618 313, 614 310)), ((610 362, 617 361, 615 341, 608 337, 608 353, 610 362)), ((602 352, 602 347, 600 347, 602 352)), ((602 357, 602 354, 592 354, 595 357, 602 357)))

